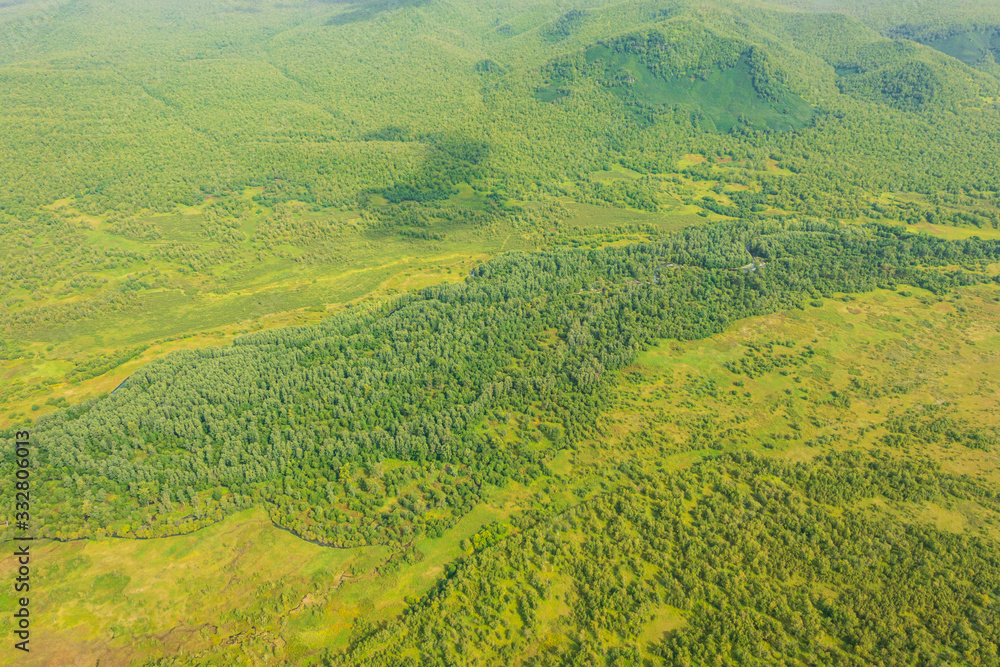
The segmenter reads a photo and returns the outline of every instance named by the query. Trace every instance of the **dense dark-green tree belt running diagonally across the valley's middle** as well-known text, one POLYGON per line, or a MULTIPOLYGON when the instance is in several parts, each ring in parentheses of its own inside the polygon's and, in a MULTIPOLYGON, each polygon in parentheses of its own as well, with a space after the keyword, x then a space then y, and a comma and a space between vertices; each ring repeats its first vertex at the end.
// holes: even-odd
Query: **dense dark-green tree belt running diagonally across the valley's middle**
POLYGON ((990 280, 979 270, 998 257, 998 242, 796 221, 511 254, 382 311, 170 355, 39 420, 39 530, 148 537, 264 503, 322 543, 406 544, 452 525, 483 485, 542 473, 656 339, 838 292, 990 280), (488 428, 500 414, 530 437, 488 428), (421 481, 428 464, 448 470, 444 490, 421 481))

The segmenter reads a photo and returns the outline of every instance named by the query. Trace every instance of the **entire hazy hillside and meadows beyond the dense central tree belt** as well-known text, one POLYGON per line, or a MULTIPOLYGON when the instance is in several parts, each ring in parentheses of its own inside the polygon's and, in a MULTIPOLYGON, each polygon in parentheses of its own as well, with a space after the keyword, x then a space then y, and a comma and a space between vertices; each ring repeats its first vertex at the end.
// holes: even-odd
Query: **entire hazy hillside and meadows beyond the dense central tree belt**
POLYGON ((0 423, 501 250, 789 214, 995 232, 990 14, 868 5, 4 3, 0 423))

